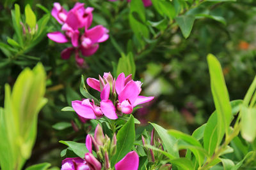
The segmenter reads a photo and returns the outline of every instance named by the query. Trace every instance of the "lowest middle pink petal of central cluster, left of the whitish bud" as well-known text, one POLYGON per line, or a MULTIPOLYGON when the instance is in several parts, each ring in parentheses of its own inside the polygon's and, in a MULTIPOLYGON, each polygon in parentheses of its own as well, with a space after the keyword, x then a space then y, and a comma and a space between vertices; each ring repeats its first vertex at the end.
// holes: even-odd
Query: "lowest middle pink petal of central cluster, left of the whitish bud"
POLYGON ((110 101, 110 100, 101 101, 100 102, 100 109, 106 117, 108 117, 110 119, 113 119, 113 120, 118 118, 117 115, 116 115, 116 108, 115 108, 112 101, 110 101))

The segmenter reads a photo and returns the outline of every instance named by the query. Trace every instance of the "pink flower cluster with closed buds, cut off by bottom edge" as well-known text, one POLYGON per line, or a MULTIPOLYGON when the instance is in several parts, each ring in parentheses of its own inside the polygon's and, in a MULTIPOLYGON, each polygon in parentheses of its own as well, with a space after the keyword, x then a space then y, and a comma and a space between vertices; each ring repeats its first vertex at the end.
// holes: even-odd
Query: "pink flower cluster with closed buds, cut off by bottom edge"
MULTIPOLYGON (((116 135, 113 135, 112 141, 108 136, 104 136, 102 127, 97 125, 94 137, 91 134, 86 136, 86 148, 89 153, 85 153, 84 159, 79 157, 67 158, 62 161, 61 170, 100 170, 111 169, 109 156, 115 155, 116 135), (92 148, 95 148, 97 159, 92 154, 92 148), (100 163, 102 162, 102 163, 100 163)), ((132 151, 127 153, 123 159, 115 164, 116 170, 138 170, 139 156, 132 151)))

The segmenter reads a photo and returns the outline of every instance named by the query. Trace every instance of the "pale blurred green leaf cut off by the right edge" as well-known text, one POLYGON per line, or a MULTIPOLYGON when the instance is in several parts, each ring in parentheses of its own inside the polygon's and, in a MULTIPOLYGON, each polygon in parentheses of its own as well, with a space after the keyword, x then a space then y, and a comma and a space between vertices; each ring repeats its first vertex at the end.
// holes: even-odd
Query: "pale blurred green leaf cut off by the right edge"
POLYGON ((256 136, 256 108, 241 108, 241 134, 246 141, 252 142, 256 136))

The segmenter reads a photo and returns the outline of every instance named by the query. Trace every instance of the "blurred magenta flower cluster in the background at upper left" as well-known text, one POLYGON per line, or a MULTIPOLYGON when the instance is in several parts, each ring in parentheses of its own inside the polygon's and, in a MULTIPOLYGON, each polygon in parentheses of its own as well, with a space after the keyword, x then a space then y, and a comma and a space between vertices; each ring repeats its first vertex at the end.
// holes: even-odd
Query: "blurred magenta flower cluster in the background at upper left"
POLYGON ((87 57, 93 55, 98 48, 99 43, 106 41, 108 36, 108 29, 102 25, 97 25, 91 29, 92 25, 92 11, 93 8, 84 8, 84 3, 76 3, 74 8, 66 11, 60 3, 54 3, 52 9, 52 16, 62 25, 60 31, 50 32, 47 34, 48 38, 57 43, 72 43, 72 47, 65 48, 61 52, 62 59, 69 59, 74 52, 78 66, 83 66, 84 59, 80 57, 79 52, 87 57))

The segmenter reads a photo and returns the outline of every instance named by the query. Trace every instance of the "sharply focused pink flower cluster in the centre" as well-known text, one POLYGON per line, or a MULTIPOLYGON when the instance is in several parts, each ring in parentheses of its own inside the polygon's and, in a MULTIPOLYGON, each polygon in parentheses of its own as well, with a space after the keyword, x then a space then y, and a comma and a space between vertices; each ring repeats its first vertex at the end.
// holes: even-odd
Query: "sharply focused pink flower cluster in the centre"
POLYGON ((72 108, 83 118, 101 118, 104 115, 110 119, 118 118, 118 115, 131 114, 138 104, 147 103, 154 97, 139 96, 141 81, 133 81, 132 75, 125 77, 124 73, 113 79, 111 73, 104 73, 103 78, 87 78, 87 84, 100 92, 99 106, 90 99, 72 101, 72 108))

